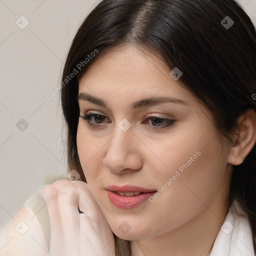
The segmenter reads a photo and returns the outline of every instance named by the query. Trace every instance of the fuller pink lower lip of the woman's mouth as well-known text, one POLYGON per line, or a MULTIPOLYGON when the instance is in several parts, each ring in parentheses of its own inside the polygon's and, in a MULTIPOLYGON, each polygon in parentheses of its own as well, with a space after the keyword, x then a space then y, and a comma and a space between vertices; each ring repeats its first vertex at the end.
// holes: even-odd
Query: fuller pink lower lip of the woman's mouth
POLYGON ((137 207, 142 202, 147 200, 154 193, 155 192, 141 193, 134 196, 122 196, 122 195, 116 194, 113 191, 107 190, 107 194, 110 202, 114 206, 120 209, 131 209, 131 208, 137 207))

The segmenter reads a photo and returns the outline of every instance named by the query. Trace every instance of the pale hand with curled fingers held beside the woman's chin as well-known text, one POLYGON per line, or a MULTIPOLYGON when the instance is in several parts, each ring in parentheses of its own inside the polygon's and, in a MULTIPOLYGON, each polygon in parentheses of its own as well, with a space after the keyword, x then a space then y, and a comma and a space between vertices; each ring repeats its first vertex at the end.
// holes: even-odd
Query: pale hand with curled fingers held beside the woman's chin
POLYGON ((51 256, 115 255, 112 230, 87 183, 61 179, 40 191, 49 211, 51 256))

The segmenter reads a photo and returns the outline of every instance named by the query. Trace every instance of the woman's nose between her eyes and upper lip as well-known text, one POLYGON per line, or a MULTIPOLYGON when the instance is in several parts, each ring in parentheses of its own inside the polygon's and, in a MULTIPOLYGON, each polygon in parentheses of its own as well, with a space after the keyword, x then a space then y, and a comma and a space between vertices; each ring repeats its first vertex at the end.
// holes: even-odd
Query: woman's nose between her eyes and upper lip
POLYGON ((139 153, 139 142, 140 140, 133 133, 132 126, 123 131, 116 125, 114 135, 108 142, 103 164, 117 174, 140 169, 143 162, 139 153))

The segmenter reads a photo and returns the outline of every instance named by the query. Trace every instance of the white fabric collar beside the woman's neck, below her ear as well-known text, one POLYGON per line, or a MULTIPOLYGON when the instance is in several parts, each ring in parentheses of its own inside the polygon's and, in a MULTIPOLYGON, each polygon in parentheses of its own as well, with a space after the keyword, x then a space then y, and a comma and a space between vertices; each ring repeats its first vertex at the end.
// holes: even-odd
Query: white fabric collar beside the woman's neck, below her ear
POLYGON ((251 226, 247 217, 234 212, 241 207, 234 201, 216 236, 209 256, 254 256, 251 226))

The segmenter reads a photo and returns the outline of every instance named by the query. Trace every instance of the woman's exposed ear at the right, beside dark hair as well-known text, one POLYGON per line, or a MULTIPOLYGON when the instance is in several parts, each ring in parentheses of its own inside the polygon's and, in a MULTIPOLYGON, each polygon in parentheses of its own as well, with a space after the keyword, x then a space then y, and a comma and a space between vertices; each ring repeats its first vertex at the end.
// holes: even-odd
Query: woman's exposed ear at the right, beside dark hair
POLYGON ((248 109, 238 118, 239 134, 235 137, 235 142, 231 147, 228 162, 239 165, 253 148, 256 142, 256 113, 253 109, 248 109))

